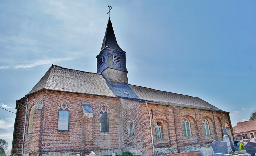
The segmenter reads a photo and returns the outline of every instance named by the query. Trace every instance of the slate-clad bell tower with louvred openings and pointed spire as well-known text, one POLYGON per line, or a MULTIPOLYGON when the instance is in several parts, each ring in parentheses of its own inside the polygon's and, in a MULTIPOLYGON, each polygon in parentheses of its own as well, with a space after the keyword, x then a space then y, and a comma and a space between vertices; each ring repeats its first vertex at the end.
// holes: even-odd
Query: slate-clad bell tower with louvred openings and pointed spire
POLYGON ((97 58, 97 73, 111 83, 128 84, 126 70, 126 57, 117 44, 115 33, 110 18, 103 39, 100 54, 97 58))

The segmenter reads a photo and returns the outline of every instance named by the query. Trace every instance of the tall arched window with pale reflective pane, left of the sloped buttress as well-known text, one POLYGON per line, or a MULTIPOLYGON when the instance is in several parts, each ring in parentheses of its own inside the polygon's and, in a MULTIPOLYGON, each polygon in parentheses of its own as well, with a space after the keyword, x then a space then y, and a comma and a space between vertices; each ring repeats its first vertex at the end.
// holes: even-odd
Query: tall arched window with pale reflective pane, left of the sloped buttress
POLYGON ((69 106, 65 103, 59 105, 58 130, 69 130, 69 106))

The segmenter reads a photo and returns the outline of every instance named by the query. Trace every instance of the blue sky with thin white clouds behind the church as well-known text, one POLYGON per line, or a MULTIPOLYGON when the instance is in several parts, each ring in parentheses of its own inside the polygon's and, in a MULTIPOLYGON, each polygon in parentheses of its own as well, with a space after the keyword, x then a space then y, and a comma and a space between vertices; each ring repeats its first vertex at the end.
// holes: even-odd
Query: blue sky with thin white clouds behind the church
MULTIPOLYGON (((200 97, 230 112, 256 109, 256 1, 0 1, 0 107, 16 113, 52 64, 96 72, 110 19, 129 84, 200 97)), ((0 108, 12 144, 15 114, 0 108)))

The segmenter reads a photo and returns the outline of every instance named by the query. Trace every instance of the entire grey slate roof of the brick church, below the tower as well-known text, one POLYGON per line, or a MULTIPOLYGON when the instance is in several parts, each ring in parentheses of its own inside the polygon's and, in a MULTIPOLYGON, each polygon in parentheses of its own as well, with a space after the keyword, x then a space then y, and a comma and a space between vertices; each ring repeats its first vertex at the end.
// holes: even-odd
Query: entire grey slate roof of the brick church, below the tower
POLYGON ((52 65, 27 95, 40 90, 93 94, 162 105, 222 111, 197 97, 154 90, 136 85, 109 83, 99 73, 67 69, 57 65, 52 65), (125 94, 123 91, 126 91, 128 94, 125 94))

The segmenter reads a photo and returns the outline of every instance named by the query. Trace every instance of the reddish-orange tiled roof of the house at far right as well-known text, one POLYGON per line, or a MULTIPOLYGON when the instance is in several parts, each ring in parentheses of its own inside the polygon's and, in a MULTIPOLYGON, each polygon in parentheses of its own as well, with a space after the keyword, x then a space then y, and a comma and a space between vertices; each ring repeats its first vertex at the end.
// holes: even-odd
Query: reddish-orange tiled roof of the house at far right
POLYGON ((237 122, 234 133, 243 133, 256 130, 256 120, 237 122))

